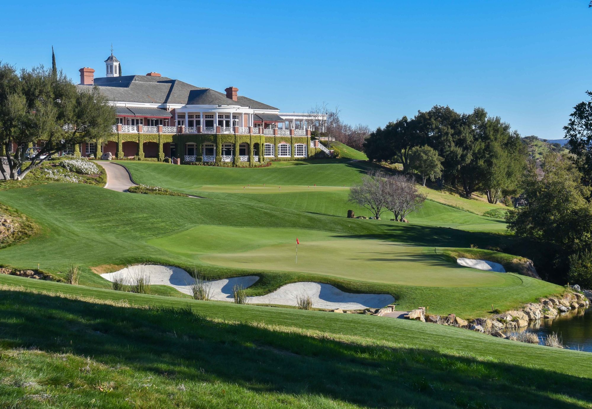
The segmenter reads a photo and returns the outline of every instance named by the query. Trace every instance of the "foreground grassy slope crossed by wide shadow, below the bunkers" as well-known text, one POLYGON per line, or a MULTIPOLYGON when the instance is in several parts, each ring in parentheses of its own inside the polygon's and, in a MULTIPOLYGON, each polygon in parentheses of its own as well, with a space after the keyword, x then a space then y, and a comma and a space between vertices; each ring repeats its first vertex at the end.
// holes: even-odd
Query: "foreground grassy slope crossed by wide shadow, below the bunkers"
POLYGON ((14 276, 0 276, 0 285, 8 407, 578 408, 592 400, 592 355, 584 352, 368 315, 14 276))

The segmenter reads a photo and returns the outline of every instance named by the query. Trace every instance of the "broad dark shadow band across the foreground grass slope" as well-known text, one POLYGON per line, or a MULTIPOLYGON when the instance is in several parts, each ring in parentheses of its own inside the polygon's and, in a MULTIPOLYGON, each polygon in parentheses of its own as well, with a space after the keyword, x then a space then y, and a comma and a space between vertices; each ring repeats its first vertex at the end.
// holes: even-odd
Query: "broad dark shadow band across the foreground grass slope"
POLYGON ((173 374, 185 385, 221 381, 265 394, 322 396, 369 407, 577 408, 592 398, 587 378, 433 350, 216 323, 189 308, 126 308, 0 291, 0 311, 4 347, 34 345, 90 356, 146 373, 152 382, 173 374))

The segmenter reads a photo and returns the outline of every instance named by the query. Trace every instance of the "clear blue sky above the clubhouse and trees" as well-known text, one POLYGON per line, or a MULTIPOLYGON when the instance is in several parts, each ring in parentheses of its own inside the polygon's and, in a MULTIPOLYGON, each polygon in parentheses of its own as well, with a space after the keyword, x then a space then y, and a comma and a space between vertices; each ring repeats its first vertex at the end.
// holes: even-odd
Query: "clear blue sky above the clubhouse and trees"
POLYGON ((279 107, 327 102, 375 128, 435 104, 563 136, 591 74, 588 0, 7 2, 0 59, 150 71, 279 107), (52 4, 54 3, 54 4, 52 4))

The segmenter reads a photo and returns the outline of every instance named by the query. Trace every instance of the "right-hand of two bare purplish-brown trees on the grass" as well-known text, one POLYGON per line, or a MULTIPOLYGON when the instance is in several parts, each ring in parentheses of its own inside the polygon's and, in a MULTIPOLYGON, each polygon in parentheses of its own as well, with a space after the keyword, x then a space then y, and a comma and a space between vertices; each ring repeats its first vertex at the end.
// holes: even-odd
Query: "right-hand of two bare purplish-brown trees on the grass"
POLYGON ((413 177, 406 175, 388 176, 385 192, 384 206, 398 221, 403 221, 410 212, 421 208, 426 200, 426 195, 419 192, 413 177))

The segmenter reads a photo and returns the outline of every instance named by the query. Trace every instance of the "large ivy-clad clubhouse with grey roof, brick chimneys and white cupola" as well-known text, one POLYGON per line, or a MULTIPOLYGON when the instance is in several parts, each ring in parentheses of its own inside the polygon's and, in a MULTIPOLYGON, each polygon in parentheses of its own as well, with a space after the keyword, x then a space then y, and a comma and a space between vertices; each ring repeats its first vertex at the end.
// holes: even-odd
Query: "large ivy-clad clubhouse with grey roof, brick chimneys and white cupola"
POLYGON ((114 105, 117 123, 104 140, 72 147, 74 154, 258 166, 328 153, 311 141, 311 131, 324 131, 326 115, 281 113, 232 86, 223 94, 155 72, 121 76, 113 54, 105 71, 105 77, 94 78, 94 69, 81 68, 78 87, 98 86, 114 105))

